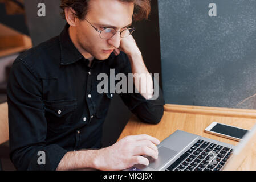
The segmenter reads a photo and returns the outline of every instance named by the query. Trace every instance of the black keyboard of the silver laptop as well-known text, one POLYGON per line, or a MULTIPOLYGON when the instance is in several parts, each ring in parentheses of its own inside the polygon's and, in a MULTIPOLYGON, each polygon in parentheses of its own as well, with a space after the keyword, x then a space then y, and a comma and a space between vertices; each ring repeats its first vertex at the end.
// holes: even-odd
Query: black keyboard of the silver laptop
POLYGON ((219 171, 232 152, 231 148, 198 140, 166 171, 219 171))

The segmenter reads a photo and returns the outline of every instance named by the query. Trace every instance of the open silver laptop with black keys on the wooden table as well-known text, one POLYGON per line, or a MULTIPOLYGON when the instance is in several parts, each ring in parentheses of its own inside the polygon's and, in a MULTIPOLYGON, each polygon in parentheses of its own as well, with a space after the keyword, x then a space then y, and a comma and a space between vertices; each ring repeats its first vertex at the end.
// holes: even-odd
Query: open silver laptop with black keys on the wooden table
MULTIPOLYGON (((149 156, 149 165, 136 164, 129 171, 219 171, 237 170, 256 140, 256 125, 237 146, 177 130, 158 147, 159 157, 149 156)), ((254 169, 255 170, 255 169, 254 169)))

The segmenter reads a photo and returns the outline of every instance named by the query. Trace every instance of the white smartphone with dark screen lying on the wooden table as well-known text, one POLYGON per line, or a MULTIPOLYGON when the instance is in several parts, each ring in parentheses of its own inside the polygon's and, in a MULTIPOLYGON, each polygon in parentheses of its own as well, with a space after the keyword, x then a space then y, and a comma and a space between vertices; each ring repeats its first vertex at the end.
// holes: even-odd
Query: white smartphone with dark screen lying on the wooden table
POLYGON ((212 122, 208 127, 206 127, 205 132, 218 135, 221 137, 241 141, 243 136, 248 130, 241 129, 239 127, 225 125, 218 122, 212 122))

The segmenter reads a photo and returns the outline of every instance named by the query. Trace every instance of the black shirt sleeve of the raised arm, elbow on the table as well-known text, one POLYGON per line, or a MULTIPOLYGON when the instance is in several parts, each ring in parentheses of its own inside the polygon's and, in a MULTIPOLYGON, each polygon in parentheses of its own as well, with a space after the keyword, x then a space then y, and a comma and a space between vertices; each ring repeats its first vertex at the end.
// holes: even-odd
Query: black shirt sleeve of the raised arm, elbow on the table
MULTIPOLYGON (((132 73, 131 64, 129 62, 128 56, 125 53, 121 52, 120 57, 123 62, 122 68, 120 68, 121 73, 125 73, 127 78, 128 74, 132 73)), ((157 94, 153 99, 147 100, 140 93, 121 93, 120 96, 124 101, 125 105, 128 106, 129 110, 132 111, 141 121, 157 124, 161 121, 162 115, 164 114, 164 97, 162 90, 159 87, 158 79, 152 75, 154 90, 157 90, 157 94)), ((128 88, 128 85, 127 85, 128 88)), ((133 83, 133 88, 135 85, 133 83)))

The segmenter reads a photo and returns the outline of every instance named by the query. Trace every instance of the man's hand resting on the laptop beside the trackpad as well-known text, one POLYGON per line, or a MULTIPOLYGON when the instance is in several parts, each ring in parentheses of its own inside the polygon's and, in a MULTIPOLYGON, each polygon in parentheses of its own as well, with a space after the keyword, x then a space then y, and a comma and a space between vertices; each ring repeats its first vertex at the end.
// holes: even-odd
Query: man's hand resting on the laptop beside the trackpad
POLYGON ((97 150, 95 167, 100 170, 123 170, 135 164, 148 165, 141 155, 157 159, 159 140, 146 134, 124 137, 110 147, 97 150))

